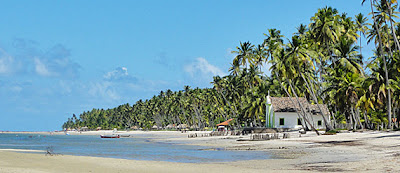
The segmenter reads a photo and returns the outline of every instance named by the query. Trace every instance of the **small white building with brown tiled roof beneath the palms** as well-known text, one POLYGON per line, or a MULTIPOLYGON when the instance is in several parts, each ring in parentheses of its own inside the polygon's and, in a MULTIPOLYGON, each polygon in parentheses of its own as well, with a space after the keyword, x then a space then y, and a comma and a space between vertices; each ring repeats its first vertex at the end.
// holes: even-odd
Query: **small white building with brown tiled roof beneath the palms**
MULTIPOLYGON (((301 110, 296 98, 293 98, 293 101, 295 102, 295 105, 289 97, 269 97, 269 99, 267 98, 267 127, 299 129, 303 127, 303 124, 311 128, 310 125, 306 123, 301 116, 301 110), (299 112, 299 114, 296 111, 299 112)), ((324 129, 325 122, 322 118, 322 114, 318 106, 315 104, 310 104, 304 97, 300 97, 299 101, 306 111, 306 118, 309 120, 310 123, 312 123, 314 128, 324 129)), ((329 118, 329 112, 326 105, 319 104, 319 106, 324 112, 324 115, 329 118)), ((328 119, 328 121, 330 120, 328 119)))

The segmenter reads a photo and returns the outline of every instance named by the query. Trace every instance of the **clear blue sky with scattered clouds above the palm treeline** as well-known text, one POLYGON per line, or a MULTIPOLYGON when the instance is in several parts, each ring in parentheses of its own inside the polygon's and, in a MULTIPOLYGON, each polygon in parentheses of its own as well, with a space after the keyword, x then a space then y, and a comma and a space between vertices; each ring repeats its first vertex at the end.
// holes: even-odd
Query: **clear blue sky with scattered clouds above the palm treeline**
POLYGON ((240 42, 269 28, 290 38, 325 6, 369 13, 361 0, 2 1, 0 131, 60 130, 93 108, 212 87, 240 42))

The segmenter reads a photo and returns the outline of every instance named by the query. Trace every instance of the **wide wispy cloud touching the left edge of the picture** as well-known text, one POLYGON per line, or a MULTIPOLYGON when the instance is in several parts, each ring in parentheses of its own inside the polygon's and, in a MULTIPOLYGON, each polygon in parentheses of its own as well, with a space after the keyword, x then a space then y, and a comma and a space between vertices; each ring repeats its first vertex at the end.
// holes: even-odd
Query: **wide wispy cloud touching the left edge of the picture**
POLYGON ((74 79, 79 76, 80 65, 70 59, 70 50, 58 44, 46 51, 33 41, 17 39, 16 53, 9 55, 0 48, 1 74, 35 74, 43 77, 74 79))

